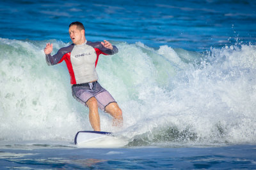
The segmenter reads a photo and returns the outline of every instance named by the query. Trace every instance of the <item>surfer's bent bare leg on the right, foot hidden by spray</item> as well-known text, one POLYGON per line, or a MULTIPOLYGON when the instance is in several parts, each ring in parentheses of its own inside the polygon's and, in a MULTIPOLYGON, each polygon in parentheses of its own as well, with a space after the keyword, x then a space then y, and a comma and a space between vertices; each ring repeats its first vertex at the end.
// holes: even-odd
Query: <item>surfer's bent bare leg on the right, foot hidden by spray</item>
POLYGON ((106 106, 105 111, 113 117, 113 125, 121 127, 123 125, 122 110, 117 103, 110 103, 106 106))

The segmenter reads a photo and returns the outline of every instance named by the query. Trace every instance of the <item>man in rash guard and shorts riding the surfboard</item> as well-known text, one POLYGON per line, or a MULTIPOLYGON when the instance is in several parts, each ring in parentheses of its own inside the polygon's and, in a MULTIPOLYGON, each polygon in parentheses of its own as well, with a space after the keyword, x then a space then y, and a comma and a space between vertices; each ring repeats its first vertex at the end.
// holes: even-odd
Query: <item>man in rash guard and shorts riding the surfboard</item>
POLYGON ((100 131, 98 108, 113 117, 113 125, 122 126, 122 110, 111 94, 100 86, 95 70, 100 54, 113 55, 118 52, 118 48, 106 40, 95 43, 87 41, 81 22, 72 22, 68 32, 73 43, 60 48, 55 55, 51 55, 52 44, 47 43, 45 46, 47 64, 52 66, 65 60, 70 74, 72 95, 89 108, 89 120, 94 131, 100 131))

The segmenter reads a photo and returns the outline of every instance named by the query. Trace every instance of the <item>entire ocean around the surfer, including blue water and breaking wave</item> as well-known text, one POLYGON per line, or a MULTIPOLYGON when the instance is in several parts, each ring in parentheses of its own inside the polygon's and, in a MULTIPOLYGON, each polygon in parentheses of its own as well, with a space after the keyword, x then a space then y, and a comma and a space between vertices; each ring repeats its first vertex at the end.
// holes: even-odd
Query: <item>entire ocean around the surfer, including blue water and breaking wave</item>
POLYGON ((0 169, 256 169, 255 1, 0 2, 0 169), (99 82, 124 126, 100 111, 121 147, 77 147, 92 131, 72 97, 68 25, 109 40, 99 82))

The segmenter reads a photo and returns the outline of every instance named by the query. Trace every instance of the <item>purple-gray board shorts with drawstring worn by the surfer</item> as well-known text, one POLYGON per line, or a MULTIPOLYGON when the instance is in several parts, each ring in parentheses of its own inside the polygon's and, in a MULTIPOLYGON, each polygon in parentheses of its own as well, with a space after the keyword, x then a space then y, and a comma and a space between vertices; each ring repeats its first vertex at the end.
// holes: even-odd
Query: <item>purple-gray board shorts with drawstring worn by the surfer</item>
POLYGON ((98 108, 103 111, 105 111, 108 104, 116 103, 111 94, 101 87, 98 81, 72 85, 72 95, 77 101, 83 103, 85 106, 87 106, 86 102, 90 98, 95 97, 97 99, 98 108))

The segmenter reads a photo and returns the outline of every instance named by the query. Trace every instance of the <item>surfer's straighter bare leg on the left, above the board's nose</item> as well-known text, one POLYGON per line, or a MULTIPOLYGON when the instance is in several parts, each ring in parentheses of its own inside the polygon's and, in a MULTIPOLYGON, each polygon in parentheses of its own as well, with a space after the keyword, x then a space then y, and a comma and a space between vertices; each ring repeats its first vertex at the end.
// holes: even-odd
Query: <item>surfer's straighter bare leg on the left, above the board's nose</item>
POLYGON ((89 120, 94 131, 100 131, 100 117, 98 111, 98 103, 95 97, 92 97, 86 102, 89 108, 89 120))

